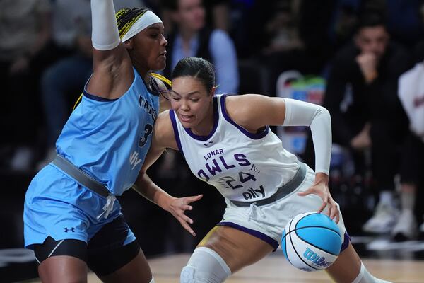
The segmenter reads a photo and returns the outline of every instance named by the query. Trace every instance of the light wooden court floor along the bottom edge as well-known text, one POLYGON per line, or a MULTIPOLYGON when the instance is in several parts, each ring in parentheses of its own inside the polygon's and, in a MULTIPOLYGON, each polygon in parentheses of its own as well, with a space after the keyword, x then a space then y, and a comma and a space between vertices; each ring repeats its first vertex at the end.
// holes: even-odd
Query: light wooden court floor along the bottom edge
MULTIPOLYGON (((189 259, 189 254, 168 255, 149 260, 155 283, 179 283, 179 271, 189 259)), ((376 277, 396 283, 423 283, 424 260, 363 260, 376 277)), ((40 281, 31 281, 33 283, 40 281)), ((89 283, 98 283, 89 275, 89 283)), ((292 267, 282 255, 269 255, 255 265, 235 273, 225 283, 324 283, 331 282, 325 272, 303 272, 292 267)))

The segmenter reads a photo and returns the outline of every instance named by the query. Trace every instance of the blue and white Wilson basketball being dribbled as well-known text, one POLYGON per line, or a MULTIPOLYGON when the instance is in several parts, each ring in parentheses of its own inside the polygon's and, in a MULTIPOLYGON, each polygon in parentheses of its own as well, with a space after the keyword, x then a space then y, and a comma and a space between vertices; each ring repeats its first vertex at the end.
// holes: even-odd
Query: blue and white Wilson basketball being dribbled
POLYGON ((304 271, 324 270, 340 253, 341 239, 337 224, 329 216, 306 212, 288 221, 281 248, 294 267, 304 271))

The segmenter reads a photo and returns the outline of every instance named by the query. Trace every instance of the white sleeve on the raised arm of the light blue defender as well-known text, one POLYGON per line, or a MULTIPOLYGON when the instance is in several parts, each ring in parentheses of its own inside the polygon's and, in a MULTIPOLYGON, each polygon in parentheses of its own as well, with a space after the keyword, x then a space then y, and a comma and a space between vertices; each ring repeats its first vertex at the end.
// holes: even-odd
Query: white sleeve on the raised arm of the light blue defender
POLYGON ((113 0, 91 0, 91 40, 97 50, 112 50, 121 40, 113 0))

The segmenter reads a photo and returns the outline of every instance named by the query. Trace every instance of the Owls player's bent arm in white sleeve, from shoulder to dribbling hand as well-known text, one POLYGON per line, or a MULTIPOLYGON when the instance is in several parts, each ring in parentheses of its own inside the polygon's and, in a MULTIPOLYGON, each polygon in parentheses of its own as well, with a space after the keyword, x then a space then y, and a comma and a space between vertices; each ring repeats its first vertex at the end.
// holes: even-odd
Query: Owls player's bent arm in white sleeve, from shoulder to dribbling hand
POLYGON ((247 94, 227 98, 227 112, 242 127, 252 132, 265 125, 308 126, 312 132, 315 149, 315 182, 299 195, 319 195, 322 212, 329 207, 328 215, 338 222, 338 206, 329 192, 329 167, 331 157, 331 117, 319 105, 288 98, 269 98, 247 94), (240 107, 240 105, 242 105, 240 107))

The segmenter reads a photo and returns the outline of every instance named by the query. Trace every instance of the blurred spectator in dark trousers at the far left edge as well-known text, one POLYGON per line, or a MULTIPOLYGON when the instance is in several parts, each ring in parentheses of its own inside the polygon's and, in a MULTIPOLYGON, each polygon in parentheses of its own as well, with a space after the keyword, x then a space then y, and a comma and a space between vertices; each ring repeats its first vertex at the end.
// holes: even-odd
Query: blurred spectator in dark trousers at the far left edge
POLYGON ((2 144, 15 150, 7 159, 13 170, 26 170, 33 162, 37 142, 39 96, 37 80, 49 61, 49 0, 0 1, 0 76, 3 79, 2 144))

